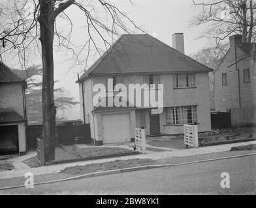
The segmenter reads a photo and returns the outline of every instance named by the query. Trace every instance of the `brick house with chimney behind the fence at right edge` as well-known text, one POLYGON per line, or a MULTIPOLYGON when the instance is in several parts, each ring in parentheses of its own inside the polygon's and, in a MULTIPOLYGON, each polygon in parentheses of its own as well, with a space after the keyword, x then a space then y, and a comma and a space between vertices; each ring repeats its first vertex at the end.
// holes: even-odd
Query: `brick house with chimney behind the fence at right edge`
POLYGON ((241 35, 229 37, 230 47, 214 72, 216 111, 256 107, 256 44, 242 43, 241 35))

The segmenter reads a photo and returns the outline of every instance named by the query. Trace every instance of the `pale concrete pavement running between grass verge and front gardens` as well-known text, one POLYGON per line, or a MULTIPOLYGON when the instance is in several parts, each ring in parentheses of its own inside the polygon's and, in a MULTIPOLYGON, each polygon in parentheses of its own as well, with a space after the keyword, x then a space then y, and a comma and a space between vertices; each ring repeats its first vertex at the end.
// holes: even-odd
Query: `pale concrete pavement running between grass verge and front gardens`
MULTIPOLYGON (((240 142, 240 143, 235 143, 235 144, 223 144, 223 145, 218 145, 218 146, 208 146, 208 147, 204 147, 204 148, 195 148, 195 149, 182 149, 180 151, 161 151, 161 152, 155 152, 155 153, 144 154, 144 155, 114 157, 114 158, 99 159, 99 160, 94 160, 94 161, 71 162, 71 163, 65 163, 65 164, 42 166, 39 168, 24 168, 21 170, 1 171, 0 179, 12 178, 12 177, 24 177, 25 173, 27 173, 27 172, 32 172, 34 175, 53 174, 53 173, 61 172, 61 170, 65 169, 67 167, 85 166, 86 164, 95 164, 95 163, 110 162, 110 161, 116 161, 116 160, 128 160, 128 159, 158 160, 158 159, 167 159, 170 157, 202 155, 202 154, 206 154, 206 153, 229 151, 234 146, 244 146, 244 145, 248 145, 248 144, 256 144, 256 141, 240 142)), ((29 155, 24 155, 24 156, 29 157, 29 155)), ((31 157, 31 155, 30 155, 30 157, 31 157)), ((17 161, 19 161, 19 159, 16 159, 16 162, 17 161)))

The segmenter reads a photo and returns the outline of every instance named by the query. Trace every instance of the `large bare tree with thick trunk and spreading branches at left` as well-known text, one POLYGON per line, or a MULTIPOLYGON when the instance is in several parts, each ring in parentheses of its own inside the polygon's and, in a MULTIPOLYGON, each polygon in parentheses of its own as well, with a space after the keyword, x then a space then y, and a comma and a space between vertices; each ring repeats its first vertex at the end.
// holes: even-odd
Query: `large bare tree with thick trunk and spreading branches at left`
MULTIPOLYGON (((56 121, 56 106, 54 104, 54 36, 57 45, 71 51, 74 61, 79 62, 82 51, 88 50, 83 57, 87 65, 87 58, 91 47, 97 53, 101 51, 95 42, 99 36, 105 47, 109 47, 110 40, 120 33, 129 33, 126 25, 129 23, 135 29, 135 23, 108 0, 3 0, 0 3, 0 42, 1 55, 15 52, 20 60, 26 60, 35 47, 42 57, 42 136, 45 144, 45 161, 51 162, 55 158, 54 127, 56 121), (84 14, 88 40, 76 52, 70 38, 72 33, 72 17, 66 14, 67 8, 73 6, 84 14), (58 31, 57 18, 69 21, 70 29, 67 35, 58 31), (38 42, 40 40, 40 44, 38 42)), ((24 61, 25 65, 25 61, 24 61)))

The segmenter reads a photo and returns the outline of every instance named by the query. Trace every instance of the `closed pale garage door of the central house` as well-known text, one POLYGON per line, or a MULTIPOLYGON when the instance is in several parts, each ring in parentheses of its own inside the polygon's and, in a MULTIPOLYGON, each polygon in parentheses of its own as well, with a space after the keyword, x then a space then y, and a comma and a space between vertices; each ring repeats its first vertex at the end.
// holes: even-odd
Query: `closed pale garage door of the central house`
POLYGON ((130 116, 129 113, 102 115, 103 143, 130 142, 130 116))

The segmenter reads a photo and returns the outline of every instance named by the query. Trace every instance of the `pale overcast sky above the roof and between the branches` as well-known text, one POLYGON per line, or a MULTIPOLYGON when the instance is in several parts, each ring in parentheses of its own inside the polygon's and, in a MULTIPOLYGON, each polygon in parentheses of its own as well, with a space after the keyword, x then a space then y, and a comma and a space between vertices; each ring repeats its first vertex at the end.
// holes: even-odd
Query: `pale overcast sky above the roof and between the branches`
MULTIPOLYGON (((132 0, 134 5, 129 3, 129 0, 110 0, 110 2, 122 12, 125 12, 130 19, 135 21, 138 27, 167 45, 172 46, 172 34, 183 32, 186 55, 196 53, 209 44, 208 39, 199 38, 201 32, 206 29, 205 27, 189 26, 189 21, 200 12, 199 7, 192 6, 192 0, 132 0)), ((84 14, 74 5, 70 6, 65 14, 72 19, 72 43, 77 46, 83 45, 88 37, 84 14)), ((58 31, 69 31, 67 21, 58 18, 57 29, 58 31)), ((86 49, 84 49, 84 54, 86 54, 86 49)), ((84 57, 86 56, 84 55, 84 57)), ((97 58, 90 57, 89 66, 97 58)), ((73 60, 74 57, 71 57, 65 49, 55 47, 54 77, 58 81, 55 86, 56 88, 63 87, 65 90, 63 95, 74 97, 76 101, 79 101, 78 84, 75 81, 77 73, 82 75, 84 72, 83 64, 85 65, 85 63, 82 63, 81 66, 71 67, 73 60)), ((40 57, 39 59, 32 59, 31 64, 41 64, 40 57)), ((69 120, 80 118, 80 107, 76 105, 72 109, 66 109, 62 112, 58 110, 57 116, 66 117, 69 120)))

